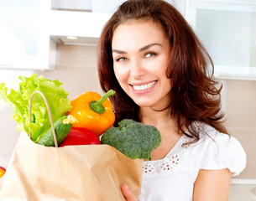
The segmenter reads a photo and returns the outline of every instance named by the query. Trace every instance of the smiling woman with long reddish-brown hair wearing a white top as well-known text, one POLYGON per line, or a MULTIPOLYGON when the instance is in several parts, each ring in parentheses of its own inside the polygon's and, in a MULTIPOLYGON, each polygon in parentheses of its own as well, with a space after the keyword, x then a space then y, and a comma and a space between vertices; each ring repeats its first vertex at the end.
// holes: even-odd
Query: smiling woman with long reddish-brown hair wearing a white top
MULTIPOLYGON (((103 28, 97 57, 102 90, 116 91, 116 122, 131 118, 161 133, 139 200, 228 200, 246 156, 222 125, 212 59, 180 13, 161 0, 123 3, 103 28)), ((126 185, 122 191, 137 200, 126 185)))

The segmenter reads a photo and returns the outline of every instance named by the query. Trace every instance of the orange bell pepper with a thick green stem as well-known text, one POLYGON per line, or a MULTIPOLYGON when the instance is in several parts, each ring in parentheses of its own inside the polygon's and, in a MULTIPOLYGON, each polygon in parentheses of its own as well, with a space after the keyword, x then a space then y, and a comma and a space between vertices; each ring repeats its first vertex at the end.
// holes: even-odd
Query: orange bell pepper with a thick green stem
POLYGON ((115 95, 114 90, 109 90, 103 96, 96 92, 87 91, 71 101, 72 109, 67 115, 74 116, 74 127, 83 127, 101 136, 115 121, 112 103, 107 100, 110 95, 115 95))

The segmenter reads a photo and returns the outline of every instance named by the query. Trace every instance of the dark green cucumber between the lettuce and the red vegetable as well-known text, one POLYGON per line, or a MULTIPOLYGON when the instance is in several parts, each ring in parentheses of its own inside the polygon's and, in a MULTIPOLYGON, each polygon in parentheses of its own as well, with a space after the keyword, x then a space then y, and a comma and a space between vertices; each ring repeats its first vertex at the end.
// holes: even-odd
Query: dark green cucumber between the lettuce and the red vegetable
MULTIPOLYGON (((64 141, 65 137, 71 131, 72 124, 63 124, 63 121, 66 119, 66 116, 61 116, 57 121, 55 121, 55 134, 58 145, 64 141)), ((44 136, 40 137, 39 141, 37 142, 40 145, 44 145, 45 147, 55 147, 55 140, 53 136, 53 130, 50 126, 48 131, 45 132, 44 136)))

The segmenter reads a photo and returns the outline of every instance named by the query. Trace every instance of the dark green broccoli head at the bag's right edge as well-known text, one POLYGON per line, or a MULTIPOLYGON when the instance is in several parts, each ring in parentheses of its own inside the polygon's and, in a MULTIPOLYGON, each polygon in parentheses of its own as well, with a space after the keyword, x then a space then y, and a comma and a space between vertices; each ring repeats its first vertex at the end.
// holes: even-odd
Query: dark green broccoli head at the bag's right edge
POLYGON ((151 152, 159 147, 162 141, 160 132, 154 126, 124 119, 118 122, 118 127, 110 127, 101 138, 102 144, 108 144, 118 149, 132 159, 151 159, 151 152))

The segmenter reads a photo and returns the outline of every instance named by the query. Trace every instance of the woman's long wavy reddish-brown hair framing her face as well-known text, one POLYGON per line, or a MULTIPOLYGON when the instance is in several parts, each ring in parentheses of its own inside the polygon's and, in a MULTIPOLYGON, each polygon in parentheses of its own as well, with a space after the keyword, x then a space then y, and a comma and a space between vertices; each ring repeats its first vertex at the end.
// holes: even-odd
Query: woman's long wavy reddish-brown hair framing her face
POLYGON ((97 66, 103 91, 115 90, 110 100, 116 122, 124 118, 138 119, 139 107, 123 91, 113 71, 112 36, 119 24, 130 20, 151 21, 159 24, 170 40, 171 55, 166 75, 170 78, 170 116, 175 118, 178 131, 199 140, 193 121, 202 121, 217 131, 227 133, 222 125, 220 92, 213 79, 213 63, 204 46, 185 18, 169 3, 161 0, 128 0, 108 20, 97 46, 97 66))

